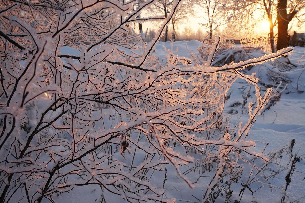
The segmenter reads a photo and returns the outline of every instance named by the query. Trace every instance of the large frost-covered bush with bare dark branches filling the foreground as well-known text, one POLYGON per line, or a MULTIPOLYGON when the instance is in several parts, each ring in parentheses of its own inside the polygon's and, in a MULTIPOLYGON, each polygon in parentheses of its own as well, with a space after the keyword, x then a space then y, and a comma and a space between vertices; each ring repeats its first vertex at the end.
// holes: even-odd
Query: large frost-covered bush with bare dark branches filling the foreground
POLYGON ((166 19, 137 18, 153 2, 1 1, 1 203, 173 202, 169 169, 192 188, 211 171, 203 201, 222 191, 229 201, 242 154, 268 161, 246 136, 271 90, 262 98, 255 75, 238 70, 291 49, 212 67, 217 38, 201 65, 169 53, 161 66, 152 50, 180 1, 166 19), (149 44, 131 30, 146 20, 163 21, 149 44), (238 77, 257 102, 232 125, 223 108, 238 77))

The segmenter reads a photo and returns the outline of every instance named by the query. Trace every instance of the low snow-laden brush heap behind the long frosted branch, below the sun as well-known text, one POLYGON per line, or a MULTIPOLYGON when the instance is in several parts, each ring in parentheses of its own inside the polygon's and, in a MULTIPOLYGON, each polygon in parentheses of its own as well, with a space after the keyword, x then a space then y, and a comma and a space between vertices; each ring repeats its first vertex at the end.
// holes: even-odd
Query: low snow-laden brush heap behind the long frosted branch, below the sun
MULTIPOLYGON (((239 63, 241 61, 262 57, 266 54, 266 52, 262 50, 265 50, 266 46, 268 45, 268 42, 266 42, 265 46, 260 46, 263 42, 266 42, 266 39, 248 38, 242 40, 243 45, 241 47, 236 47, 234 44, 231 44, 230 41, 220 41, 217 53, 215 53, 214 56, 213 66, 229 65, 233 62, 239 63)), ((198 47, 198 53, 192 54, 190 52, 192 55, 193 64, 203 64, 207 60, 207 53, 211 46, 212 44, 209 43, 209 41, 204 41, 203 45, 198 47)), ((268 88, 272 88, 272 92, 270 93, 271 99, 262 113, 265 110, 270 109, 271 106, 275 105, 280 100, 282 93, 301 92, 293 87, 292 84, 290 84, 291 79, 286 74, 286 71, 295 69, 296 67, 297 65, 291 63, 289 58, 281 57, 274 61, 264 63, 264 65, 249 65, 246 68, 240 70, 241 72, 248 75, 256 73, 256 77, 259 79, 258 84, 261 90, 266 91, 268 88)), ((255 103, 256 100, 255 98, 253 99, 254 87, 250 83, 244 84, 239 89, 241 91, 242 100, 231 103, 231 109, 228 111, 231 114, 247 114, 249 101, 252 100, 252 102, 255 103)), ((228 97, 230 94, 231 91, 229 92, 228 97)))

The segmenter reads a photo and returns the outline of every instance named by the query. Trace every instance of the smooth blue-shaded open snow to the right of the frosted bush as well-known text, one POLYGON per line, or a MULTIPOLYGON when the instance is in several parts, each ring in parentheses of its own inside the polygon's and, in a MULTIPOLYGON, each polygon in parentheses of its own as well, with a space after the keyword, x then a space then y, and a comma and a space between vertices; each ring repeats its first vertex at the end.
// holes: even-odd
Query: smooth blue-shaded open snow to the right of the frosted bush
MULTIPOLYGON (((305 47, 294 47, 292 54, 288 58, 300 65, 305 65, 305 58, 302 58, 305 47), (301 60, 300 60, 301 59, 301 60)), ((305 72, 304 66, 302 69, 298 67, 287 72, 287 75, 292 80, 291 85, 299 90, 304 90, 305 72)), ((269 145, 266 151, 276 150, 279 146, 288 145, 292 138, 295 139, 294 153, 298 156, 305 155, 305 93, 296 93, 291 88, 291 93, 282 94, 281 100, 271 107, 270 110, 260 115, 256 123, 250 130, 249 139, 256 139, 262 142, 268 142, 269 145)), ((287 188, 287 195, 290 201, 293 202, 298 198, 305 196, 305 160, 301 160, 296 164, 296 170, 292 174, 291 184, 287 188)), ((285 186, 285 177, 279 179, 279 185, 285 186)), ((279 190, 278 190, 279 191, 279 190)), ((268 188, 258 191, 257 196, 261 196, 261 200, 257 202, 280 202, 282 194, 277 191, 269 191, 268 188), (269 198, 266 201, 266 198, 269 198)), ((251 198, 251 197, 249 197, 251 198)), ((304 202, 304 198, 300 202, 304 202)), ((246 202, 246 201, 245 201, 246 202)))

